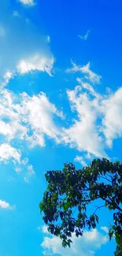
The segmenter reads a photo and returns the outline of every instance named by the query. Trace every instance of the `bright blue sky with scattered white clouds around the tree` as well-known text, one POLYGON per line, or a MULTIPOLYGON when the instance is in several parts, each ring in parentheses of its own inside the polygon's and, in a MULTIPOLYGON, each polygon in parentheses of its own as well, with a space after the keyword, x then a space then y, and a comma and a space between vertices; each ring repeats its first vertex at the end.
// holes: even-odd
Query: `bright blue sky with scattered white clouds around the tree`
POLYGON ((0 2, 2 256, 115 250, 107 234, 112 213, 102 209, 98 228, 62 249, 39 202, 47 170, 122 160, 121 9, 119 0, 0 2))

